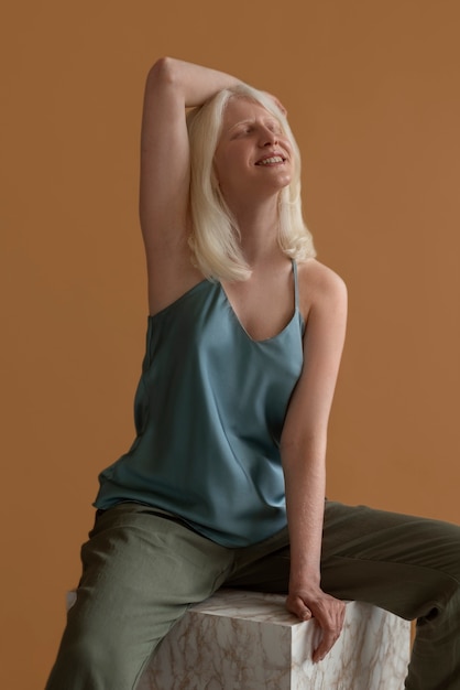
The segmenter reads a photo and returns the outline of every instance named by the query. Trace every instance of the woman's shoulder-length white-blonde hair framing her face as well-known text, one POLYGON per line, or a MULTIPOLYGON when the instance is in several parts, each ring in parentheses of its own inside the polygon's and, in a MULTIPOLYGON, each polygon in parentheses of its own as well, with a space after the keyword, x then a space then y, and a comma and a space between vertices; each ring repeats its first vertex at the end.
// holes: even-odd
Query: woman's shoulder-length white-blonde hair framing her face
POLYGON ((222 197, 213 166, 223 112, 233 97, 259 103, 278 120, 288 138, 293 150, 293 177, 278 194, 278 242, 284 254, 297 261, 316 256, 311 235, 302 216, 300 153, 287 119, 269 95, 239 85, 219 91, 187 116, 193 225, 189 245, 194 262, 206 278, 228 281, 247 280, 251 276, 241 251, 237 220, 222 197))

